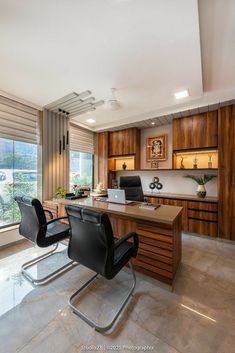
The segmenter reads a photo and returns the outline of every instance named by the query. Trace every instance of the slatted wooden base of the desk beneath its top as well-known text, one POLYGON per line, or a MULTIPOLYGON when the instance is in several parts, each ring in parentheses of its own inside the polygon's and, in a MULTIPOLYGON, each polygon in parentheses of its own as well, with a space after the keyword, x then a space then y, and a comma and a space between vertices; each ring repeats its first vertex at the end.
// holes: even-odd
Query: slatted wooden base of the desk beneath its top
MULTIPOLYGON (((50 201, 47 202, 47 207, 49 203, 50 201)), ((59 216, 66 214, 63 201, 59 203, 51 201, 51 203, 51 208, 55 205, 58 207, 59 216)), ((65 203, 68 204, 69 201, 66 200, 65 203)), ((74 205, 74 202, 70 201, 70 203, 74 205)), ((176 212, 177 216, 172 224, 133 218, 125 213, 117 215, 110 210, 107 214, 116 237, 129 232, 138 234, 139 253, 134 259, 136 269, 160 281, 172 284, 181 259, 181 213, 176 212)))

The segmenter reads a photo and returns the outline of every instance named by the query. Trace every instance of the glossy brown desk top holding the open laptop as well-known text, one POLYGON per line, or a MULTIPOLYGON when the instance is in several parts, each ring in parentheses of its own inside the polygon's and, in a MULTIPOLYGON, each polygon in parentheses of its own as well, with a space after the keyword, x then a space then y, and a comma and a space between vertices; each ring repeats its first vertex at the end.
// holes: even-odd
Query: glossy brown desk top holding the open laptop
POLYGON ((141 219, 151 222, 172 225, 176 218, 181 214, 183 208, 177 206, 161 205, 156 210, 146 210, 140 208, 141 203, 121 205, 111 202, 96 201, 94 197, 87 197, 77 200, 59 199, 55 201, 61 205, 74 205, 87 207, 97 211, 122 215, 130 218, 141 219))

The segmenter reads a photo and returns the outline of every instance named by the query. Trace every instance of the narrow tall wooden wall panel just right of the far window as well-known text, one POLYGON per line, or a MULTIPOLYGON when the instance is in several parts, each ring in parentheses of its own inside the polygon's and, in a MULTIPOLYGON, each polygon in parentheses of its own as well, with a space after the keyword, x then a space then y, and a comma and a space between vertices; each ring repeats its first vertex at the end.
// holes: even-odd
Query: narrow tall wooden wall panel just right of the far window
POLYGON ((98 134, 98 182, 103 183, 105 189, 108 188, 108 132, 98 134))

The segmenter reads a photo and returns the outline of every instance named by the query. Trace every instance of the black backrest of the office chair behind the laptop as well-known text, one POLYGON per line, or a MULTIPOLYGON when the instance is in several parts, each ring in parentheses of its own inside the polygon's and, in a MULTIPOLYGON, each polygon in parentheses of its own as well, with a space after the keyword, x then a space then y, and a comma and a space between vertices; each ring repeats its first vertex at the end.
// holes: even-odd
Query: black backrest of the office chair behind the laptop
POLYGON ((144 201, 144 193, 139 175, 121 176, 120 189, 125 190, 126 200, 140 202, 144 201))

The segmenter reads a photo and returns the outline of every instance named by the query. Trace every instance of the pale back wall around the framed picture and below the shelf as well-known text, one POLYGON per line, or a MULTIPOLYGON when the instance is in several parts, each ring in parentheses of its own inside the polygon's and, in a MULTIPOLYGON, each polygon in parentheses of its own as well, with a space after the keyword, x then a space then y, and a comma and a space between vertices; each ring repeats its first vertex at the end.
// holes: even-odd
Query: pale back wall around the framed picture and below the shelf
MULTIPOLYGON (((150 163, 146 161, 146 141, 148 137, 167 135, 167 160, 159 162, 159 168, 172 168, 172 125, 163 125, 149 129, 141 130, 141 169, 150 168, 150 163)), ((151 192, 148 185, 154 176, 160 178, 163 184, 163 193, 176 194, 196 194, 197 184, 191 180, 184 178, 185 175, 203 175, 204 171, 200 170, 179 170, 179 171, 120 171, 117 172, 118 181, 121 175, 140 175, 144 191, 151 192)), ((216 171, 210 171, 210 174, 217 174, 216 171)), ((217 196, 217 178, 206 184, 207 196, 217 196)), ((157 191, 154 191, 157 192, 157 191)))

